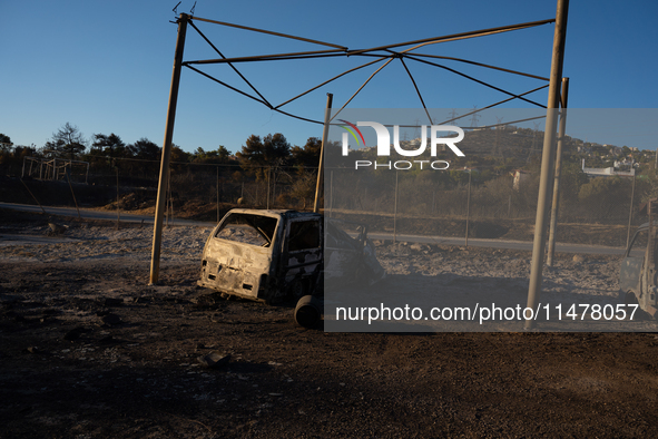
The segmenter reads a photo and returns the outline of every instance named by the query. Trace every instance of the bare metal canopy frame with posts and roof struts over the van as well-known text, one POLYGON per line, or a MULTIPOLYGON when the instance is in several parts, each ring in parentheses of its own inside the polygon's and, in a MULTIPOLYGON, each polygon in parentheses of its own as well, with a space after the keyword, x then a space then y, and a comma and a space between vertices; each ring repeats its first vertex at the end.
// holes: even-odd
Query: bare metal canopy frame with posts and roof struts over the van
MULTIPOLYGON (((513 100, 513 99, 523 100, 528 104, 531 104, 531 105, 534 105, 534 106, 538 106, 541 108, 547 108, 546 131, 544 131, 546 135, 544 135, 544 145, 543 145, 543 154, 542 154, 542 169, 541 169, 541 177, 540 177, 540 194, 539 194, 539 199, 538 199, 537 222, 536 222, 536 232, 534 232, 534 245, 533 245, 533 253, 532 253, 532 273, 531 273, 530 287, 529 287, 529 293, 528 293, 528 306, 534 308, 534 304, 539 297, 539 291, 540 291, 540 285, 541 285, 541 266, 543 265, 543 252, 544 252, 544 246, 546 246, 546 233, 544 232, 547 228, 546 223, 548 220, 547 212, 549 211, 549 205, 547 204, 547 199, 549 198, 549 196, 548 196, 549 192, 552 192, 552 189, 553 189, 552 188, 552 186, 553 186, 552 185, 552 177, 553 177, 554 160, 556 160, 556 129, 557 129, 557 115, 556 114, 558 113, 557 109, 559 108, 559 100, 560 100, 559 99, 560 98, 560 80, 562 78, 561 75, 562 75, 562 60, 563 60, 566 29, 567 29, 567 11, 569 8, 569 0, 557 0, 557 2, 558 2, 558 8, 557 8, 557 13, 556 13, 554 19, 524 22, 524 23, 519 23, 519 25, 503 26, 503 27, 482 29, 482 30, 461 32, 461 33, 453 33, 453 35, 448 35, 448 36, 433 37, 433 38, 405 41, 405 42, 387 45, 387 46, 379 46, 379 47, 369 48, 369 49, 356 49, 356 50, 351 50, 345 46, 335 45, 335 43, 331 43, 331 42, 318 41, 318 40, 313 40, 313 39, 308 39, 308 38, 296 37, 296 36, 292 36, 292 35, 274 32, 274 31, 268 31, 268 30, 257 29, 257 28, 251 28, 251 27, 246 27, 246 26, 234 25, 234 23, 228 23, 228 22, 223 22, 223 21, 217 21, 217 20, 209 20, 209 19, 205 19, 205 18, 194 17, 191 14, 180 13, 179 18, 176 20, 176 23, 178 25, 178 38, 176 41, 174 71, 173 71, 173 76, 171 76, 171 88, 170 88, 170 94, 169 94, 169 109, 167 113, 167 127, 166 127, 166 131, 165 131, 165 140, 164 140, 164 146, 163 146, 163 159, 160 162, 160 178, 159 178, 159 186, 158 186, 158 199, 157 199, 157 204, 156 204, 156 218, 155 218, 155 225, 154 225, 154 241, 153 241, 154 245, 153 245, 153 253, 151 253, 150 282, 157 283, 158 276, 159 276, 161 227, 163 227, 163 216, 164 216, 164 209, 165 209, 164 199, 166 198, 165 191, 168 185, 167 169, 169 167, 169 160, 170 160, 171 139, 173 139, 173 134, 174 134, 174 120, 176 117, 176 103, 178 99, 178 86, 180 82, 180 70, 183 67, 186 67, 186 68, 188 68, 188 69, 190 69, 190 70, 193 70, 193 71, 195 71, 195 72, 197 72, 197 74, 199 74, 199 75, 202 75, 202 76, 204 76, 204 77, 206 77, 206 78, 208 78, 208 79, 210 79, 210 80, 213 80, 226 88, 229 88, 230 90, 233 90, 239 95, 243 95, 243 96, 245 96, 249 99, 253 99, 257 103, 261 103, 262 105, 266 106, 267 108, 269 108, 273 111, 277 111, 277 113, 283 114, 285 116, 289 116, 289 117, 293 117, 293 118, 296 118, 299 120, 305 120, 308 123, 323 124, 324 125, 324 133, 326 133, 328 125, 331 124, 331 120, 333 118, 335 118, 354 99, 354 97, 371 81, 371 79, 375 75, 377 75, 380 71, 382 71, 382 69, 384 69, 386 66, 392 64, 393 60, 399 59, 400 62, 402 64, 402 66, 404 67, 406 74, 409 75, 411 82, 413 84, 415 92, 421 101, 421 105, 423 106, 423 109, 425 110, 425 113, 428 115, 428 118, 430 119, 431 125, 434 124, 434 121, 430 117, 430 114, 428 111, 428 107, 425 105, 425 100, 423 99, 421 90, 419 89, 419 87, 415 82, 415 79, 413 78, 413 75, 412 75, 411 70, 409 69, 409 66, 405 62, 405 60, 416 61, 416 62, 421 62, 424 65, 430 65, 430 66, 434 66, 434 67, 448 70, 450 72, 453 72, 453 74, 459 75, 463 78, 475 81, 482 86, 492 88, 497 91, 500 91, 500 92, 509 96, 504 100, 489 105, 489 106, 483 107, 481 109, 475 109, 467 115, 462 115, 460 117, 452 118, 450 120, 445 120, 442 124, 446 124, 446 123, 456 120, 459 118, 467 117, 469 115, 475 114, 478 111, 481 111, 481 110, 484 110, 488 108, 495 107, 498 105, 504 104, 504 103, 513 100), (298 41, 311 42, 311 43, 314 43, 317 46, 322 46, 324 49, 299 51, 299 52, 288 52, 288 53, 271 53, 271 55, 261 55, 261 56, 251 56, 251 57, 227 58, 197 28, 197 26, 194 23, 195 21, 208 22, 208 23, 232 27, 232 28, 248 30, 248 31, 258 32, 258 33, 265 33, 265 35, 298 40, 298 41), (513 30, 529 29, 529 28, 533 28, 537 26, 543 26, 543 25, 549 25, 549 23, 556 23, 554 37, 553 37, 553 52, 552 52, 552 61, 551 61, 551 72, 550 72, 549 78, 537 76, 537 75, 530 75, 530 74, 526 74, 526 72, 521 72, 521 71, 515 71, 515 70, 511 70, 511 69, 505 69, 505 68, 501 68, 498 66, 485 65, 485 64, 477 62, 477 61, 472 61, 472 60, 461 59, 461 58, 443 57, 443 56, 438 56, 438 55, 416 52, 416 49, 423 48, 429 45, 491 36, 491 35, 509 32, 509 31, 513 31, 513 30), (215 50, 215 52, 219 56, 219 58, 183 61, 183 52, 184 52, 184 48, 185 48, 185 38, 186 38, 188 25, 215 50), (273 61, 273 60, 295 60, 295 59, 298 60, 298 59, 336 58, 336 57, 366 57, 366 58, 375 58, 375 59, 369 60, 367 62, 365 62, 361 66, 345 70, 342 74, 336 75, 336 76, 318 84, 317 86, 312 87, 311 89, 303 91, 303 92, 289 98, 288 100, 285 100, 284 103, 278 104, 278 105, 271 104, 271 101, 261 91, 258 91, 256 89, 256 87, 254 87, 254 85, 252 82, 249 82, 248 79, 235 66, 240 62, 262 62, 262 61, 273 61), (519 76, 523 76, 523 77, 534 78, 538 80, 547 81, 549 84, 543 85, 538 88, 534 88, 532 90, 522 92, 522 94, 514 94, 509 90, 497 87, 492 84, 477 79, 472 76, 465 75, 461 71, 458 71, 456 69, 446 67, 446 66, 438 62, 438 60, 450 60, 450 61, 456 61, 456 62, 479 66, 479 67, 483 67, 487 69, 493 69, 493 70, 498 70, 498 71, 508 72, 511 75, 519 75, 519 76), (370 66, 374 66, 380 62, 383 62, 383 64, 340 107, 340 109, 334 113, 334 116, 332 118, 328 117, 328 109, 331 107, 331 101, 332 101, 331 95, 327 99, 327 110, 325 110, 325 120, 324 121, 313 120, 313 119, 310 119, 310 118, 306 118, 306 117, 303 117, 299 115, 293 115, 288 111, 284 111, 282 109, 282 107, 286 106, 287 104, 289 104, 289 103, 301 98, 302 96, 305 96, 305 95, 310 94, 311 91, 316 90, 316 89, 318 89, 318 88, 321 88, 321 87, 323 87, 323 86, 325 86, 325 85, 327 85, 327 84, 330 84, 330 82, 332 82, 332 81, 334 81, 334 80, 336 80, 350 72, 353 72, 353 71, 356 71, 356 70, 360 70, 360 69, 363 69, 363 68, 366 68, 370 66), (246 86, 248 86, 251 91, 247 92, 247 91, 240 90, 236 87, 233 87, 233 86, 222 81, 220 79, 217 79, 217 78, 208 75, 207 72, 204 72, 199 68, 200 66, 218 65, 218 64, 228 65, 244 80, 244 82, 246 84, 246 86), (532 94, 538 90, 541 90, 546 87, 549 87, 549 92, 548 92, 549 96, 548 96, 548 105, 547 106, 526 98, 527 95, 532 94)), ((530 119, 524 119, 524 120, 530 120, 530 119)), ((524 121, 524 120, 515 120, 515 121, 509 121, 505 124, 498 124, 498 125, 509 125, 509 124, 514 124, 514 123, 524 121)), ((326 142, 326 136, 323 134, 323 147, 324 147, 325 142, 326 142)), ((323 153, 321 153, 321 155, 323 153)), ((322 165, 322 159, 321 159, 321 165, 322 165)), ((318 169, 318 182, 320 182, 320 175, 322 175, 322 166, 318 169)), ((556 187, 557 187, 557 185, 556 185, 556 187)), ((316 202, 315 202, 315 209, 316 208, 317 208, 317 196, 316 196, 316 202)), ((526 324, 527 329, 531 329, 532 325, 533 325, 532 321, 527 321, 527 324, 526 324)))

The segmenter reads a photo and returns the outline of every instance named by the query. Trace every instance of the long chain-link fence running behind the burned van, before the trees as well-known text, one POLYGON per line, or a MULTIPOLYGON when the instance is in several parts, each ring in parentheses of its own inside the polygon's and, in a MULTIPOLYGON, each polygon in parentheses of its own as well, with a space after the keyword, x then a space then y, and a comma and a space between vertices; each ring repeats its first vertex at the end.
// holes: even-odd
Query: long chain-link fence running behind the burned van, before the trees
MULTIPOLYGON (((229 208, 311 209, 316 169, 285 166, 242 168, 236 164, 170 166, 167 214, 218 221, 229 208)), ((6 202, 100 207, 124 213, 155 212, 159 165, 114 160, 72 166, 59 178, 40 178, 39 166, 4 177, 6 202), (88 173, 88 174, 87 174, 88 173), (70 178, 70 184, 69 184, 70 178), (86 183, 85 183, 86 182, 86 183)), ((501 174, 501 173, 499 173, 501 174)), ((647 221, 641 204, 654 178, 588 177, 567 172, 560 181, 557 241, 625 246, 647 221), (631 207, 632 201, 632 207, 631 207)), ((493 175, 487 169, 325 172, 323 205, 332 217, 361 221, 372 232, 445 237, 532 241, 538 172, 493 175)))

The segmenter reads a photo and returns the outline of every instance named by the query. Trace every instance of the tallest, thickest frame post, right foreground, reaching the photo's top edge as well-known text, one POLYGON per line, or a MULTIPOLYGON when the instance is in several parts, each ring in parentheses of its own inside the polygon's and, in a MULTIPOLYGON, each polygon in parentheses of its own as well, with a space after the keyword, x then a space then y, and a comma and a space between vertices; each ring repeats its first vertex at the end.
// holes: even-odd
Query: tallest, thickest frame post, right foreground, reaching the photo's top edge
MULTIPOLYGON (((551 179, 553 178, 553 160, 556 157, 556 130, 558 127, 558 106, 560 100, 560 79, 562 78, 562 62, 564 59, 564 41, 567 38, 567 16, 569 0, 558 0, 556 12, 556 31, 553 36, 553 55, 551 59, 551 75, 543 135, 543 152, 541 156, 541 175, 539 179, 539 196, 537 198, 537 216, 534 221, 534 242, 532 245, 532 262, 530 265, 530 284, 528 286, 528 308, 537 310, 541 294, 541 271, 543 269, 543 253, 546 251, 546 233, 550 202, 551 179)), ((534 328, 536 321, 526 316, 526 330, 534 328)))

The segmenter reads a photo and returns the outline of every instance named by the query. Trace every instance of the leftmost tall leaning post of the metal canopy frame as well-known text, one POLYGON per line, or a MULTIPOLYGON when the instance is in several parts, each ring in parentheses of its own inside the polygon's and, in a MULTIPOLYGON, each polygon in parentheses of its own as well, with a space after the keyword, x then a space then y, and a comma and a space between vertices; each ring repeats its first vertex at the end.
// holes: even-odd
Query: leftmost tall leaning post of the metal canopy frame
POLYGON ((180 84, 180 69, 183 67, 183 50, 185 49, 185 33, 189 16, 181 13, 178 19, 178 38, 176 39, 176 52, 174 55, 174 71, 171 74, 171 88, 169 90, 169 108, 167 110, 167 127, 163 143, 163 158, 160 162, 160 179, 158 183, 158 198, 156 202, 156 217, 154 222, 153 251, 150 256, 150 283, 158 282, 160 274, 160 246, 163 243, 163 217, 165 215, 166 191, 169 184, 169 159, 171 157, 171 140, 174 138, 174 120, 176 119, 176 103, 178 101, 178 85, 180 84))

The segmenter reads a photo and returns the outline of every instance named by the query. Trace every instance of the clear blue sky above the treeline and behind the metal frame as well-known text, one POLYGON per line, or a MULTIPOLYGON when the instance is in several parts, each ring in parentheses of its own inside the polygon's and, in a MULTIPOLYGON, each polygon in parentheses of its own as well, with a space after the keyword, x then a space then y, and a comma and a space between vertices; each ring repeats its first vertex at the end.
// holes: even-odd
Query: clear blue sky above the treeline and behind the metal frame
MULTIPOLYGON (((178 1, 2 0, 0 14, 0 133, 16 145, 43 144, 67 121, 90 138, 119 135, 160 144, 166 123, 178 1)), ((178 12, 189 12, 184 0, 178 12)), ((553 18, 556 1, 242 1, 198 0, 195 16, 369 48, 470 30, 553 18)), ((570 78, 571 108, 658 107, 658 2, 571 1, 563 76, 570 78)), ((227 57, 316 50, 320 47, 278 37, 196 22, 227 57)), ((553 26, 433 45, 420 52, 464 58, 549 76, 553 26)), ((188 30, 185 60, 217 58, 188 30)), ((236 65, 274 105, 369 59, 361 57, 236 65)), ((433 108, 472 108, 507 96, 448 71, 407 60, 423 98, 433 108)), ((442 62, 512 92, 542 85, 536 79, 456 62, 442 62)), ((381 64, 380 64, 381 65, 381 64)), ((283 109, 322 119, 326 94, 341 106, 380 65, 334 81, 283 109)), ((207 71, 243 90, 248 88, 226 66, 207 71)), ((530 95, 546 104, 546 90, 530 95)), ((524 107, 524 104, 511 104, 524 107)), ((395 60, 350 104, 353 108, 415 108, 420 101, 395 60)), ((655 115, 650 111, 649 115, 655 115)), ((652 116, 628 146, 655 149, 652 116)), ((303 145, 322 136, 322 126, 291 119, 200 75, 184 69, 174 143, 185 150, 218 145, 239 150, 252 135, 283 133, 303 145)), ((569 129, 568 129, 569 134, 569 129)), ((592 142, 610 134, 586 133, 592 142)), ((580 134, 579 134, 580 136, 580 134)))

